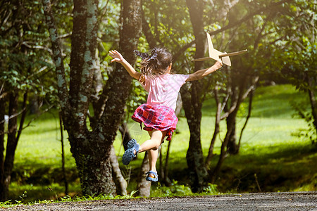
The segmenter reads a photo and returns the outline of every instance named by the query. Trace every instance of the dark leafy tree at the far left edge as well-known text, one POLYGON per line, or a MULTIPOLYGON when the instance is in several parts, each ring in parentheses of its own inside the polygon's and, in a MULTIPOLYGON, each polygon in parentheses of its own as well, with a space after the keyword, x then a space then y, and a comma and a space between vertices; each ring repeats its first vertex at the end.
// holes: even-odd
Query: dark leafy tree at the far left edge
POLYGON ((0 200, 8 196, 15 149, 25 127, 29 97, 45 96, 48 90, 49 77, 43 77, 42 73, 47 73, 50 67, 45 62, 49 51, 39 45, 45 43, 42 40, 45 31, 40 26, 43 15, 37 13, 39 9, 39 4, 32 1, 0 3, 0 200), (4 131, 4 115, 8 115, 7 131, 4 131))

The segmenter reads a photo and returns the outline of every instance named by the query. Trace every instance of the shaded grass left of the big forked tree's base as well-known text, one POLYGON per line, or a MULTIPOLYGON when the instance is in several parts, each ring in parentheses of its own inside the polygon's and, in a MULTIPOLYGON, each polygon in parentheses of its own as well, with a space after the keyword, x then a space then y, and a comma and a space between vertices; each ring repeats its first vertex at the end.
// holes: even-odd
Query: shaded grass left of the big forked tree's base
MULTIPOLYGON (((65 196, 65 184, 61 167, 38 162, 19 163, 14 166, 9 186, 9 198, 27 203, 36 200, 56 200, 65 196)), ((66 167, 68 195, 81 194, 76 167, 66 167)))

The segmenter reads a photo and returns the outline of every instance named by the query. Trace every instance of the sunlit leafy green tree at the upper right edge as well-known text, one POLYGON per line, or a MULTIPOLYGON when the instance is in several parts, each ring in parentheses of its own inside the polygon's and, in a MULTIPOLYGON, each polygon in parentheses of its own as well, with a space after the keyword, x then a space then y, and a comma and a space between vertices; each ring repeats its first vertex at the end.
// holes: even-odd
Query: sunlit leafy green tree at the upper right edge
POLYGON ((275 21, 280 37, 272 43, 272 55, 279 59, 271 65, 308 96, 310 108, 301 102, 294 102, 293 106, 309 127, 302 135, 313 142, 317 139, 316 20, 316 3, 301 0, 287 4, 285 13, 275 21))

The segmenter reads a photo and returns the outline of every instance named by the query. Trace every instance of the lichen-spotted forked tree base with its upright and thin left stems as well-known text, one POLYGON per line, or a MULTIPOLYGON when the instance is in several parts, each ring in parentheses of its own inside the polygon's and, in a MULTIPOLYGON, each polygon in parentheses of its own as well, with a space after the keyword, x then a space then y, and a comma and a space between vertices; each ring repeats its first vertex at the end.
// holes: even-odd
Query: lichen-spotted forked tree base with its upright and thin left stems
POLYGON ((61 56, 61 42, 58 39, 51 2, 43 0, 46 23, 49 26, 61 114, 68 132, 70 151, 73 153, 83 195, 115 193, 110 147, 104 145, 104 135, 97 130, 92 134, 86 125, 89 98, 92 91, 92 77, 95 70, 97 45, 97 1, 74 1, 72 53, 70 55, 70 93, 61 56), (68 101, 70 96, 70 101, 68 101), (108 156, 107 156, 108 155, 108 156))

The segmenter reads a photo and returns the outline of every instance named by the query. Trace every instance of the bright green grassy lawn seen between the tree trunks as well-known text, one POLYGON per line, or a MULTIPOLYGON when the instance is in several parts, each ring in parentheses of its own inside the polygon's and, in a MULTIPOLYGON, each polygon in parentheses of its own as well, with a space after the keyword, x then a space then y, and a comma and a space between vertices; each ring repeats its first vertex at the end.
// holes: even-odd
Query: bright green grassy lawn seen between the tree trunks
MULTIPOLYGON (((316 191, 317 185, 317 149, 311 141, 292 134, 306 128, 303 120, 293 118, 294 111, 290 101, 304 101, 306 95, 297 92, 289 85, 260 87, 256 90, 252 117, 242 136, 242 146, 238 155, 225 159, 222 171, 216 183, 221 192, 252 191, 316 191), (260 189, 259 189, 260 188, 260 189)), ((237 120, 237 134, 244 124, 247 103, 242 104, 237 120)), ((214 102, 209 99, 203 106, 201 124, 201 144, 204 154, 208 153, 214 125, 214 102)), ((11 197, 19 198, 27 191, 27 199, 49 199, 61 196, 61 134, 58 117, 52 113, 42 115, 23 131, 15 153, 15 167, 11 184, 11 197)), ((147 140, 147 132, 142 132, 139 124, 128 124, 130 133, 139 142, 147 140)), ((220 139, 225 136, 225 122, 220 124, 220 135, 216 141, 215 153, 219 154, 220 139)), ((70 194, 80 194, 75 160, 71 156, 67 134, 64 134, 66 150, 66 168, 70 180, 70 194)), ((170 149, 170 179, 175 179, 186 188, 186 151, 189 129, 184 117, 178 122, 178 134, 173 137, 170 149)), ((120 138, 114 142, 118 155, 123 154, 120 138)), ((163 153, 168 144, 163 144, 163 153)), ((142 156, 128 167, 121 165, 123 174, 138 173, 142 156)), ((212 167, 218 156, 213 158, 212 167)), ((119 157, 120 160, 120 157, 119 157)), ((159 167, 159 165, 158 165, 159 167)), ((135 190, 135 181, 131 180, 129 191, 135 190)), ((159 184, 152 191, 162 190, 159 184)), ((162 192, 162 191, 161 191, 162 192)), ((161 193, 159 191, 159 193, 161 193)), ((156 196, 155 195, 155 196, 156 196)))

